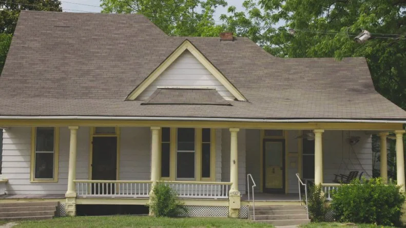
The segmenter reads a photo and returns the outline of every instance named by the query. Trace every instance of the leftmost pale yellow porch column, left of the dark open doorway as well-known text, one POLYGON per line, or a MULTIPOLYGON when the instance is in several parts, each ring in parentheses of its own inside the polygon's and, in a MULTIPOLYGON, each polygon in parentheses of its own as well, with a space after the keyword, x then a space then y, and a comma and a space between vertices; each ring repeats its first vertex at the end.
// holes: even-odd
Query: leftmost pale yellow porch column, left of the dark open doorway
POLYGON ((70 143, 69 143, 69 171, 68 171, 68 191, 66 197, 66 213, 68 216, 76 215, 76 150, 78 145, 78 126, 69 126, 70 130, 70 143))

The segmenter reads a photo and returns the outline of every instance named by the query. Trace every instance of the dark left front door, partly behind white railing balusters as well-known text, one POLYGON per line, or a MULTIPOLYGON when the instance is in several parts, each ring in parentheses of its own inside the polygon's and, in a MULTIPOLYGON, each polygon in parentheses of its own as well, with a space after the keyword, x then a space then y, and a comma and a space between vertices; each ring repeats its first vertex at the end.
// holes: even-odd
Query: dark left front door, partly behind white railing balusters
MULTIPOLYGON (((93 137, 92 180, 115 180, 117 177, 117 137, 93 137)), ((110 184, 96 185, 92 194, 113 193, 110 184), (103 191, 103 193, 101 192, 103 191)))

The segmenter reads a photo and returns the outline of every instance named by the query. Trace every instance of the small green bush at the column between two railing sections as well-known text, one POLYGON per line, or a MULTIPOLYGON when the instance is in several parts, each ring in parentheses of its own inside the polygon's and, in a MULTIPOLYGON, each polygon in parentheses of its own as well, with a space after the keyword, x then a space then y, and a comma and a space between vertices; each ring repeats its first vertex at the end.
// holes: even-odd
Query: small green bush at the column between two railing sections
POLYGON ((158 182, 153 186, 149 208, 156 217, 176 217, 186 213, 185 206, 177 199, 178 194, 168 184, 158 182))

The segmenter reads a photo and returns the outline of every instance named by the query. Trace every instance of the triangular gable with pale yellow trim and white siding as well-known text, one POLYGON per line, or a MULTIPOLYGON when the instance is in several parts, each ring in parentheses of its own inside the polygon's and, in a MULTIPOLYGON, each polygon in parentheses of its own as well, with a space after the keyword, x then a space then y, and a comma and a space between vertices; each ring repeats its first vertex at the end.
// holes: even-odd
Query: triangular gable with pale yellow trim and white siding
POLYGON ((188 40, 185 40, 128 96, 145 100, 157 89, 214 89, 225 100, 245 101, 243 95, 188 40))

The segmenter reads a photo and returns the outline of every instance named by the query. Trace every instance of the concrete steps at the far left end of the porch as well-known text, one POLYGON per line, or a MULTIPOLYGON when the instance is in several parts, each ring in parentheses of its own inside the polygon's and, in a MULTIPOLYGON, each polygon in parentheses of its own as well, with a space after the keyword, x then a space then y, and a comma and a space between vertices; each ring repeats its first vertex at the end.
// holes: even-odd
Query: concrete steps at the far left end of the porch
POLYGON ((57 216, 59 202, 0 203, 0 220, 41 220, 57 216))

